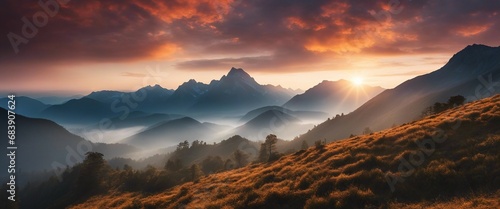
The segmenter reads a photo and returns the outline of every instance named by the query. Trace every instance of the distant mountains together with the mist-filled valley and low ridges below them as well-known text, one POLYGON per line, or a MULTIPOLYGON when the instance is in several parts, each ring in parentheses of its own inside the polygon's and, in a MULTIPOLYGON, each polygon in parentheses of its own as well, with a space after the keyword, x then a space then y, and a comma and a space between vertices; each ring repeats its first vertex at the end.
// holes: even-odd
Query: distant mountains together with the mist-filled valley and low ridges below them
MULTIPOLYGON (((122 141, 142 148, 170 146, 179 141, 202 138, 220 140, 237 134, 251 140, 262 140, 263 134, 276 132, 283 139, 292 139, 312 128, 313 124, 326 120, 331 112, 348 111, 359 106, 357 102, 366 98, 359 100, 359 95, 354 92, 363 89, 372 95, 381 90, 380 87, 367 86, 356 87, 354 92, 345 90, 353 86, 345 80, 324 81, 297 95, 301 92, 261 85, 243 69, 231 68, 220 80, 204 84, 191 79, 176 90, 160 85, 146 86, 134 92, 103 90, 54 105, 18 97, 17 112, 57 122, 82 137, 87 138, 90 133, 101 136, 105 142, 122 141), (316 107, 328 106, 327 103, 335 104, 329 107, 342 108, 318 108, 328 112, 316 110, 316 107), (177 120, 185 116, 190 116, 193 123, 177 120), (233 128, 210 123, 226 117, 234 118, 230 119, 233 128), (201 124, 193 118, 209 122, 201 124), (109 124, 110 128, 103 130, 102 124, 109 124), (197 127, 196 131, 191 131, 194 127, 197 127), (141 138, 140 142, 137 137, 141 138)), ((1 99, 4 108, 6 99, 1 99)))

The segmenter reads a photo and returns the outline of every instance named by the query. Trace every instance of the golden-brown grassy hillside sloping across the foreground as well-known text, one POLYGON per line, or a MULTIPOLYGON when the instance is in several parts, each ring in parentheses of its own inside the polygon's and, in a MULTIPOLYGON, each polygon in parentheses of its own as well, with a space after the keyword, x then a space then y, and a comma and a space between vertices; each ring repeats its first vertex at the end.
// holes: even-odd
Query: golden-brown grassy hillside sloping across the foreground
POLYGON ((500 95, 156 194, 72 208, 498 208, 500 95))

